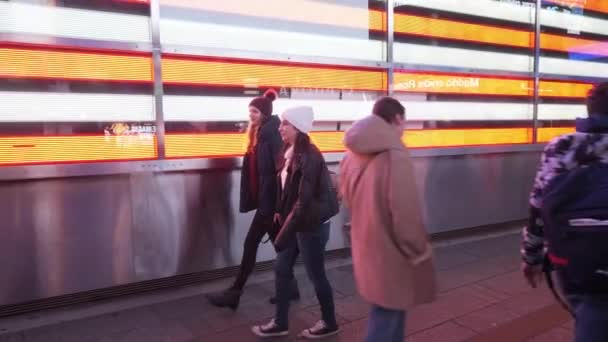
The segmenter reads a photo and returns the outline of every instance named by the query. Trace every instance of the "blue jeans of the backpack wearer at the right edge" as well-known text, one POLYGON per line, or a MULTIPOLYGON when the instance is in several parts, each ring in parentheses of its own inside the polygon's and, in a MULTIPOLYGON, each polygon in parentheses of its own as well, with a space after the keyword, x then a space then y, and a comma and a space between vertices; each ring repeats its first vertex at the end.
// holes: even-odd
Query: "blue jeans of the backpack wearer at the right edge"
POLYGON ((608 341, 608 298, 589 295, 568 296, 576 315, 575 342, 608 341))

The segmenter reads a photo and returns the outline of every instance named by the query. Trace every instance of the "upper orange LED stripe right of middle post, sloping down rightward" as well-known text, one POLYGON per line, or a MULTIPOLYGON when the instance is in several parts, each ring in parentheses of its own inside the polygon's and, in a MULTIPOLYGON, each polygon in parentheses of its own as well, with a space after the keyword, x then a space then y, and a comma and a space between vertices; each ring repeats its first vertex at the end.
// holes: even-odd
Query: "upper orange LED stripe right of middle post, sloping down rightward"
MULTIPOLYGON (((470 42, 513 46, 534 47, 534 33, 510 28, 481 24, 470 24, 446 19, 434 19, 409 14, 395 14, 395 33, 412 34, 425 37, 463 40, 470 42)), ((541 34, 541 49, 572 52, 601 41, 541 34)), ((596 51, 603 54, 602 51, 596 51)))

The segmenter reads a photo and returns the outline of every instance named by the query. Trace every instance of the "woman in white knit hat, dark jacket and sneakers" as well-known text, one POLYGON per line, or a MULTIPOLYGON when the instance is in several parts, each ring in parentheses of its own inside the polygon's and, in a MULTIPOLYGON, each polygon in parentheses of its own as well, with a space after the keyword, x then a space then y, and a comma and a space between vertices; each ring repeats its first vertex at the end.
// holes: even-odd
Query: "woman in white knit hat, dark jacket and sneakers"
POLYGON ((311 107, 287 109, 279 132, 285 143, 283 166, 277 176, 274 217, 277 250, 275 264, 276 314, 252 331, 260 337, 289 334, 289 296, 293 266, 302 253, 306 272, 315 287, 322 319, 300 335, 321 338, 338 332, 332 288, 325 274, 324 252, 329 239, 329 219, 338 213, 338 201, 323 155, 310 141, 314 114, 311 107))

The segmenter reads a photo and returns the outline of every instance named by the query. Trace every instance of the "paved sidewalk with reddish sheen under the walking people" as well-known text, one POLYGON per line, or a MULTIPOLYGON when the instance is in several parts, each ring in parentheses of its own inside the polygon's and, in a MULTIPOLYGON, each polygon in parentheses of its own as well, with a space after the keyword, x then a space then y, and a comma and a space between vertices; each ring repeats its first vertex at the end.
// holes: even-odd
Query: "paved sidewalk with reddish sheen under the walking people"
MULTIPOLYGON (((518 240, 519 236, 508 236, 437 248, 440 293, 435 302, 409 310, 407 341, 464 341, 555 305, 548 289, 531 290, 523 281, 519 272, 518 240)), ((330 269, 327 275, 334 287, 336 315, 342 332, 325 341, 363 341, 369 304, 357 294, 352 266, 330 269)), ((296 340, 298 333, 321 317, 314 288, 306 274, 300 269, 296 278, 302 298, 290 308, 291 335, 274 341, 296 340)), ((190 292, 188 298, 135 309, 120 310, 120 305, 116 305, 120 311, 112 314, 23 332, 9 330, 10 327, 3 324, 10 333, 0 335, 0 342, 258 341, 250 331, 251 326, 267 323, 275 311, 275 306, 268 303, 274 295, 272 280, 247 286, 236 312, 215 308, 202 294, 193 294, 195 292, 190 292)), ((94 305, 90 304, 93 308, 94 305)), ((572 335, 572 322, 565 325, 561 322, 531 341, 567 340, 572 335)))

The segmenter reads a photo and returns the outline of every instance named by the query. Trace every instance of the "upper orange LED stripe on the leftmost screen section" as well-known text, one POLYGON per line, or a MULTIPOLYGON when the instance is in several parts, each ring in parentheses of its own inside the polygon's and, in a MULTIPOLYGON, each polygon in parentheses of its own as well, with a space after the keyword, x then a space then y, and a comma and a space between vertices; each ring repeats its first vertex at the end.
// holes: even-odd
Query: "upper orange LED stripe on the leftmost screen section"
POLYGON ((152 59, 0 47, 0 77, 151 82, 152 59))

